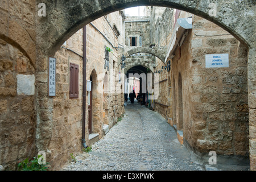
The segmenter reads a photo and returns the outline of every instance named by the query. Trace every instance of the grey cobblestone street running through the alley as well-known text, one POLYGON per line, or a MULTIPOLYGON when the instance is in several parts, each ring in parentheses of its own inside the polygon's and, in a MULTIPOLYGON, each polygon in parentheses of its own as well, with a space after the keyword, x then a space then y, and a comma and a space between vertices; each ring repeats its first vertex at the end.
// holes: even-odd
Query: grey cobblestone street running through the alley
POLYGON ((177 140, 174 129, 158 113, 127 102, 122 121, 92 151, 76 157, 62 170, 203 170, 177 140))

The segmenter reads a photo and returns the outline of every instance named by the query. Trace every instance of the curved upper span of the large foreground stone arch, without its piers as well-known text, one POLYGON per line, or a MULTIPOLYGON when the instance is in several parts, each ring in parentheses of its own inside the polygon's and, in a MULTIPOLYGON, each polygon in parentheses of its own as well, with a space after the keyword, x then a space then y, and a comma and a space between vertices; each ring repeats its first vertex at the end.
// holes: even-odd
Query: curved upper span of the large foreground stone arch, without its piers
POLYGON ((58 1, 54 4, 50 0, 40 1, 46 4, 47 18, 39 17, 37 26, 37 45, 43 53, 52 55, 77 30, 103 15, 127 7, 148 5, 164 6, 199 15, 224 28, 248 47, 255 46, 254 39, 254 7, 253 2, 225 0, 198 1, 108 1, 85 0, 78 2, 58 1), (242 7, 242 8, 240 8, 242 7), (61 25, 61 26, 56 26, 61 25))

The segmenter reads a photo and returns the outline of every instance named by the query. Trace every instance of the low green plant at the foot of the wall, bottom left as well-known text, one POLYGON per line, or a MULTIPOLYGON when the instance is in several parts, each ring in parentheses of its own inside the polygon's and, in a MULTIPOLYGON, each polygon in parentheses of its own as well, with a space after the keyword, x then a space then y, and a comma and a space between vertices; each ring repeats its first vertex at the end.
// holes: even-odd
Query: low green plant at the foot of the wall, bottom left
POLYGON ((18 169, 19 171, 48 171, 48 164, 39 164, 38 163, 38 159, 41 157, 42 155, 39 155, 38 158, 34 157, 34 160, 31 160, 29 162, 28 158, 23 160, 22 162, 20 162, 18 164, 18 169))

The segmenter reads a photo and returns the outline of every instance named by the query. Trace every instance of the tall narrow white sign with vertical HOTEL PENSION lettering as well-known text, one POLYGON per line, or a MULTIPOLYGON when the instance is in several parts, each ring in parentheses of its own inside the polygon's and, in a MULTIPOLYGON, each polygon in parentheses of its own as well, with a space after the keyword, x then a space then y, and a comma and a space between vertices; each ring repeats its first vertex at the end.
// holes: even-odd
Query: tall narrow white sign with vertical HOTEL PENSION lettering
POLYGON ((56 58, 49 57, 49 96, 56 96, 56 58))

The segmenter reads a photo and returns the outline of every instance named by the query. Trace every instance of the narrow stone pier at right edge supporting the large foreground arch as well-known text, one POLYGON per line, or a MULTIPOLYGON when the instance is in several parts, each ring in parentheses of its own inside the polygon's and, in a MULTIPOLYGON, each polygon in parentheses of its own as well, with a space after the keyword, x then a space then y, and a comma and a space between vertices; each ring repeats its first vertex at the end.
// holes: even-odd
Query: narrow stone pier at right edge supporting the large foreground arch
POLYGON ((255 47, 248 54, 248 105, 250 133, 250 164, 251 170, 256 171, 256 53, 255 47))

